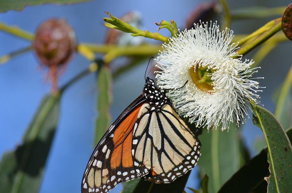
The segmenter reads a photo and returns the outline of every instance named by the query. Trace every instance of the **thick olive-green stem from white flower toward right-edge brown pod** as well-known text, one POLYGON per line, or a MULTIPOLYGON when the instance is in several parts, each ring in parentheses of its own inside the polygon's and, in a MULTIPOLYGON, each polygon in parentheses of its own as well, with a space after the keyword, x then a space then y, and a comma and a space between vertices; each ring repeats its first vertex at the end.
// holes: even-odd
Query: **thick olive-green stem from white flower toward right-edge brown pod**
MULTIPOLYGON (((248 52, 250 52, 251 50, 253 50, 254 48, 258 47, 258 45, 262 44, 263 42, 265 42, 267 39, 269 39, 270 37, 272 37, 274 34, 276 34, 278 31, 280 31, 281 28, 281 18, 272 20, 273 21, 273 26, 265 31, 263 34, 261 34, 260 36, 258 36, 256 39, 254 39, 253 41, 247 43, 245 46, 243 46, 242 48, 240 48, 239 50, 237 50, 237 54, 238 55, 246 55, 248 52)), ((234 56, 234 58, 238 58, 240 56, 234 56)))

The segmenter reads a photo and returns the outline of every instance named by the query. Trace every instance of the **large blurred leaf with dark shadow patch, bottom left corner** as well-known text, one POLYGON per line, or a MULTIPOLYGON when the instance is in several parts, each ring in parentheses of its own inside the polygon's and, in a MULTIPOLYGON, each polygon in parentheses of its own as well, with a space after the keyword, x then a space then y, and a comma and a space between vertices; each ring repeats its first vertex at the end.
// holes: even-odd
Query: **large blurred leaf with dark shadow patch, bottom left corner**
POLYGON ((22 145, 6 152, 0 162, 2 192, 38 192, 58 124, 60 94, 43 99, 22 145))

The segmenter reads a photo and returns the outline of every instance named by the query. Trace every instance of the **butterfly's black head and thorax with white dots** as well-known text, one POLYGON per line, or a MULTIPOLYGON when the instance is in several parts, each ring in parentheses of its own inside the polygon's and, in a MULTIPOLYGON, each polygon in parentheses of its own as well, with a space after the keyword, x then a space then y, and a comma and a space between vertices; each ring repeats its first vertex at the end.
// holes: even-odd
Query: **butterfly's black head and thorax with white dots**
POLYGON ((169 102, 169 99, 165 95, 165 90, 157 87, 154 80, 149 77, 146 78, 143 95, 149 100, 150 104, 153 104, 157 108, 161 108, 169 102))

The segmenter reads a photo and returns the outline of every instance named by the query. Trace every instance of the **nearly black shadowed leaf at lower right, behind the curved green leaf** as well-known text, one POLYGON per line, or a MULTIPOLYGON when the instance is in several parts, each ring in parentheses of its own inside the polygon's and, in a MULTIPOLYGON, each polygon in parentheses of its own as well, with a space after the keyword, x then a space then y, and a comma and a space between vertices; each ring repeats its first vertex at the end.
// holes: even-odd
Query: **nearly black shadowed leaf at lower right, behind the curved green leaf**
MULTIPOLYGON (((292 128, 286 131, 291 142, 292 128)), ((269 164, 267 163, 267 147, 258 155, 253 157, 246 165, 242 166, 219 190, 223 192, 263 192, 258 189, 267 190, 267 182, 265 177, 270 175, 269 164)))

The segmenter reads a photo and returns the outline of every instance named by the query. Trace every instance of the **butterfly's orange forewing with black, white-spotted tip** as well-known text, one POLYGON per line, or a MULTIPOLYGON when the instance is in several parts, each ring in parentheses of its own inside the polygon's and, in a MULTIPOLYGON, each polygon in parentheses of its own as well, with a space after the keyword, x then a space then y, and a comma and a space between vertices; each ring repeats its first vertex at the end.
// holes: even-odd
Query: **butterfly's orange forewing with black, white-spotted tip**
POLYGON ((108 192, 120 182, 140 177, 133 172, 131 154, 133 128, 142 106, 141 97, 135 101, 124 111, 127 116, 122 113, 95 148, 84 172, 82 192, 108 192))

